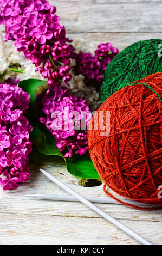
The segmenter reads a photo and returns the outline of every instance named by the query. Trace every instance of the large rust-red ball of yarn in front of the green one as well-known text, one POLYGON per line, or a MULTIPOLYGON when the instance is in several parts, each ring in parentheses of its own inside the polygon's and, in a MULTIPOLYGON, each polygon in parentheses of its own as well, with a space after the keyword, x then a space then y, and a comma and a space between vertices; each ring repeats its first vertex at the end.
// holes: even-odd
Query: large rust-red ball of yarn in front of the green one
POLYGON ((159 72, 115 92, 92 118, 88 131, 90 157, 105 182, 105 192, 121 203, 124 202, 109 193, 106 186, 120 196, 162 205, 161 96, 159 72), (102 127, 96 129, 100 113, 104 116, 102 127, 108 131, 109 126, 106 136, 102 135, 102 127))

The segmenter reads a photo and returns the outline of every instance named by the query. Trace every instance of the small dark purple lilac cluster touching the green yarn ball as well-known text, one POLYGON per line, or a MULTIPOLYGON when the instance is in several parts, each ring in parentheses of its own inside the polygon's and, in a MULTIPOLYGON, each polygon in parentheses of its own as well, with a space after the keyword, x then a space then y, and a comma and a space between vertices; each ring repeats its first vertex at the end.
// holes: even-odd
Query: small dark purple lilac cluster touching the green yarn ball
POLYGON ((99 44, 95 54, 81 52, 75 55, 76 71, 85 76, 85 82, 95 82, 101 85, 103 72, 107 65, 119 53, 119 50, 112 46, 110 42, 99 44))

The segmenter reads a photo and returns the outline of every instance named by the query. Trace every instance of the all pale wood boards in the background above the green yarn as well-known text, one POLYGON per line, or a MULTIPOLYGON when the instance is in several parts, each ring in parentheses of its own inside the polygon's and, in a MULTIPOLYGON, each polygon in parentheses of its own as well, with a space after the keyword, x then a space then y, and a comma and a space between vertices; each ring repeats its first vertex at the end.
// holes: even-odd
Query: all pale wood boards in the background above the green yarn
POLYGON ((71 39, 109 41, 120 51, 135 41, 162 39, 161 0, 52 0, 50 3, 57 7, 56 14, 71 39))

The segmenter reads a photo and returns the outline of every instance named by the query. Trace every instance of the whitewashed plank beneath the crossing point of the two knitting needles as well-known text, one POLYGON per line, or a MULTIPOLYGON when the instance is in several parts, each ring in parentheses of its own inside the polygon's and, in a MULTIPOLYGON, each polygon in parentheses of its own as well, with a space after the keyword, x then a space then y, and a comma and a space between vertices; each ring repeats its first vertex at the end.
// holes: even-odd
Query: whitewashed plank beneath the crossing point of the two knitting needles
MULTIPOLYGON (((63 165, 50 167, 42 166, 49 173, 55 175, 62 182, 65 182, 75 191, 83 196, 107 197, 103 192, 103 187, 82 187, 77 184, 78 178, 69 175, 63 165)), ((21 213, 29 217, 30 214, 51 215, 51 216, 71 216, 71 217, 87 217, 101 218, 95 212, 87 208, 81 203, 73 202, 56 202, 48 200, 35 200, 26 198, 25 194, 30 193, 53 193, 66 194, 57 185, 48 180, 36 166, 30 168, 31 178, 27 184, 24 184, 16 191, 0 191, 0 198, 3 200, 0 203, 0 214, 16 214, 21 213), (20 210, 21 209, 21 210, 20 210)), ((151 221, 161 222, 162 211, 140 211, 133 208, 128 208, 124 205, 112 204, 96 204, 102 210, 121 220, 134 221, 151 221)), ((7 215, 8 216, 8 215, 7 215)))

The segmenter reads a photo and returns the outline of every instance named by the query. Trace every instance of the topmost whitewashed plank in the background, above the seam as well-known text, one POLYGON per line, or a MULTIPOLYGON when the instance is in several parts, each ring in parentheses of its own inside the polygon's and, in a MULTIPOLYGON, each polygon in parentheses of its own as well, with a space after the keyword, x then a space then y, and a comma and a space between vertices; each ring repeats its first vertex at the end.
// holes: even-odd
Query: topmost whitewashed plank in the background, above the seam
POLYGON ((162 32, 162 2, 50 1, 68 33, 162 32))

